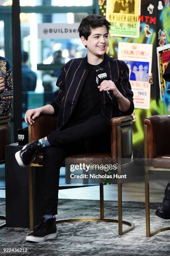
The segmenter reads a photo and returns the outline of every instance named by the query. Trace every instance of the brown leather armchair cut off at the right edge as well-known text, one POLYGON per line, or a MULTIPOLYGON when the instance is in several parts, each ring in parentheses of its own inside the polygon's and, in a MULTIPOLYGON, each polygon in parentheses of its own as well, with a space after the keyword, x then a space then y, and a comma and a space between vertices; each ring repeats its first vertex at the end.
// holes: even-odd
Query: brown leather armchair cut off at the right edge
POLYGON ((150 231, 149 170, 170 171, 170 115, 154 115, 143 120, 145 133, 145 204, 146 236, 170 230, 170 227, 150 231))

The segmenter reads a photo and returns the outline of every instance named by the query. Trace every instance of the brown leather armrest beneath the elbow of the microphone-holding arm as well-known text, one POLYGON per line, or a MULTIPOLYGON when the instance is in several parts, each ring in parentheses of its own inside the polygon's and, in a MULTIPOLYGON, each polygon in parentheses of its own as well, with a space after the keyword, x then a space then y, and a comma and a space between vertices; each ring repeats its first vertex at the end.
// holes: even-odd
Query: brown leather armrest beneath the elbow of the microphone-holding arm
POLYGON ((112 158, 116 159, 118 147, 122 158, 132 157, 132 115, 123 115, 111 120, 112 158), (119 134, 118 134, 119 133, 119 134))

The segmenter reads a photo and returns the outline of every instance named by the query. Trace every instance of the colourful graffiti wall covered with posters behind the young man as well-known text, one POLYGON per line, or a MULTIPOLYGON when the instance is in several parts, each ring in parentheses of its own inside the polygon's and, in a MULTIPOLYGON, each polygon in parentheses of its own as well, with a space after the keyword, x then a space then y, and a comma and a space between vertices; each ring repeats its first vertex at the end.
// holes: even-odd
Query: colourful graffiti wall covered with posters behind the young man
POLYGON ((148 76, 147 82, 144 82, 144 77, 140 78, 141 82, 133 81, 136 78, 130 79, 135 101, 134 157, 140 158, 144 156, 143 118, 170 113, 170 83, 162 78, 170 61, 170 0, 99 0, 99 14, 112 24, 109 56, 119 57, 127 61, 127 65, 130 62, 136 77, 139 77, 138 73, 145 72, 148 76), (120 10, 122 5, 124 9, 120 10), (125 48, 127 51, 123 50, 125 48), (140 53, 140 57, 136 53, 140 53), (141 86, 141 90, 135 86, 141 86))

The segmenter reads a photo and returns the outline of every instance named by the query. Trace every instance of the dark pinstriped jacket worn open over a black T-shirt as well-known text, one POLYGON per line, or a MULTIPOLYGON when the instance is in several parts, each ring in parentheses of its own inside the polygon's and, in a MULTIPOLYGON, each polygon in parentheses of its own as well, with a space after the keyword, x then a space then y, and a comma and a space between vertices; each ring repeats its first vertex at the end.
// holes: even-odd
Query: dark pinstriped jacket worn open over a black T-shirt
MULTIPOLYGON (((117 86, 117 89, 130 101, 129 110, 126 113, 122 113, 118 108, 117 100, 115 99, 113 103, 107 96, 107 92, 102 91, 101 109, 103 114, 110 119, 118 115, 132 114, 134 110, 133 92, 129 83, 127 65, 124 61, 113 59, 104 54, 103 68, 108 71, 107 73, 117 86)), ((55 92, 55 97, 51 102, 54 108, 54 115, 58 115, 57 128, 62 128, 69 120, 71 113, 73 113, 88 73, 87 56, 85 58, 72 59, 61 68, 61 73, 56 82, 59 90, 55 92)))

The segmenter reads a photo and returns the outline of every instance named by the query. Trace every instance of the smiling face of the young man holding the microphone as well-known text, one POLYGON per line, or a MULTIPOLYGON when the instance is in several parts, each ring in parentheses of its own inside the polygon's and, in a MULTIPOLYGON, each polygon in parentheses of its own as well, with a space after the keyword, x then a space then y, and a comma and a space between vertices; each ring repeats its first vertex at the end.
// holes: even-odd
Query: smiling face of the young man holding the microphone
POLYGON ((84 36, 81 36, 81 42, 87 46, 87 58, 92 56, 101 58, 108 46, 108 32, 106 26, 91 28, 91 34, 87 40, 84 36))

